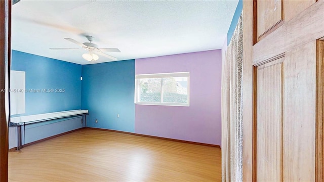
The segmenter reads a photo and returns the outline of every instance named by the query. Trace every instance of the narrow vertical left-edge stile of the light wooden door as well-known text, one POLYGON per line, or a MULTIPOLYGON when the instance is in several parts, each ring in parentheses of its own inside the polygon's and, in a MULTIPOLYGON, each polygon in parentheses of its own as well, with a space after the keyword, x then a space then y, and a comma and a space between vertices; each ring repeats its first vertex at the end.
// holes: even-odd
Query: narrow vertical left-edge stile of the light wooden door
POLYGON ((242 124, 243 124, 243 181, 252 181, 253 172, 253 1, 243 2, 243 67, 242 67, 242 124))

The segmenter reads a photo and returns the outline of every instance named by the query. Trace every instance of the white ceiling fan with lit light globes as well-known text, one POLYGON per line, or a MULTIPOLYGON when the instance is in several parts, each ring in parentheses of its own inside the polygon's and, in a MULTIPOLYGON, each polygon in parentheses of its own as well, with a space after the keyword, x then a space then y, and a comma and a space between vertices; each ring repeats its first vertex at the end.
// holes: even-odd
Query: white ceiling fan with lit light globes
MULTIPOLYGON (((89 53, 85 53, 82 55, 82 57, 87 60, 87 61, 97 61, 99 59, 98 55, 101 56, 105 56, 111 60, 116 61, 117 58, 107 55, 104 52, 117 52, 120 53, 120 51, 118 49, 114 49, 114 48, 98 48, 98 45, 95 43, 92 43, 93 41, 93 37, 87 35, 86 36, 87 39, 89 40, 89 42, 84 42, 84 43, 80 43, 72 38, 64 38, 72 43, 75 43, 77 45, 79 45, 80 47, 82 47, 83 49, 87 50, 89 53), (97 55, 98 54, 98 55, 97 55)), ((50 50, 73 50, 74 48, 50 48, 50 50)), ((77 48, 76 48, 77 49, 77 48)))

